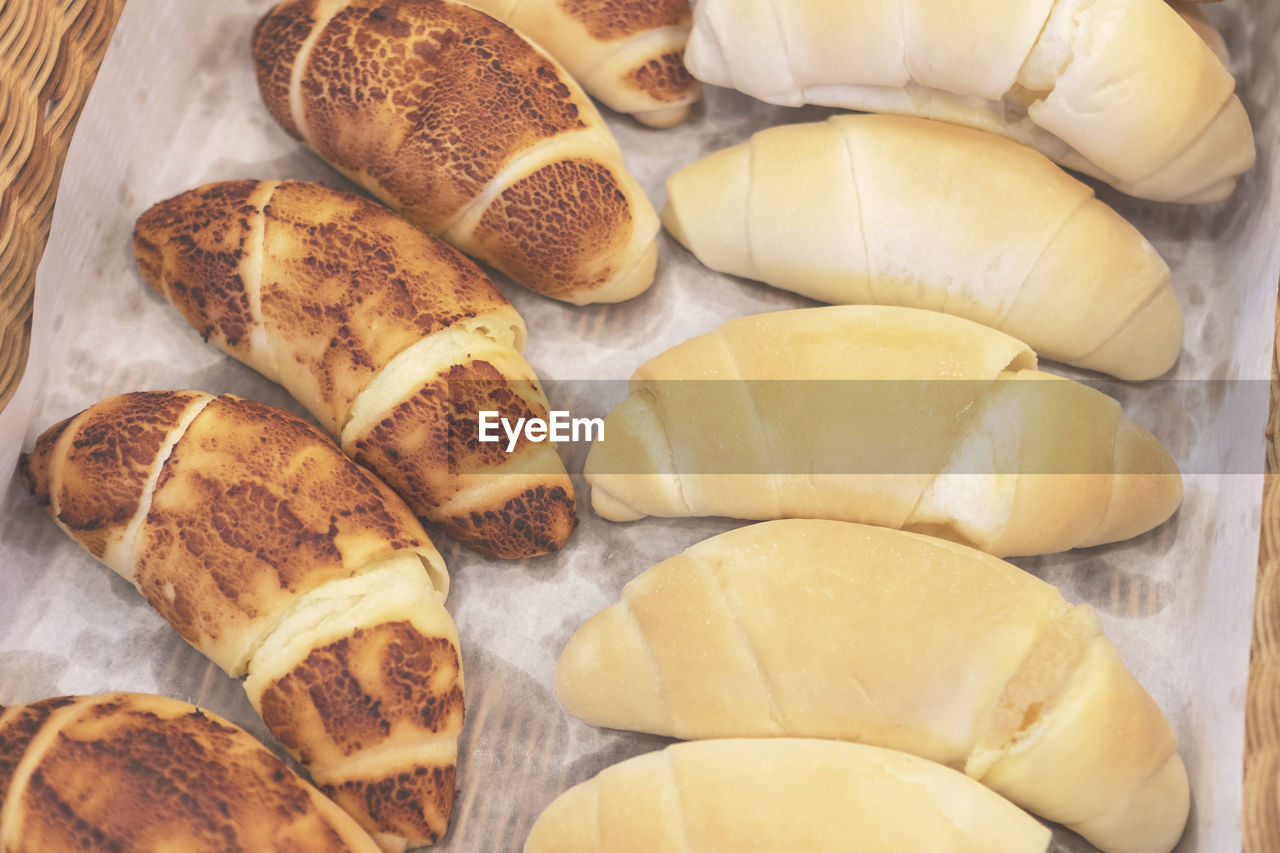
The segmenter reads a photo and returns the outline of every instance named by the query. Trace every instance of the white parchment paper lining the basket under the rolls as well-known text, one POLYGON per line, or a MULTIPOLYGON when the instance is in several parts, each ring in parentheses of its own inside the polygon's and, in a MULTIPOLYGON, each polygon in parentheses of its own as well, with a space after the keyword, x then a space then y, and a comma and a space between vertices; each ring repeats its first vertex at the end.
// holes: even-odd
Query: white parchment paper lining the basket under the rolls
MULTIPOLYGON (((151 690, 209 707, 270 743, 239 685, 64 537, 15 478, 9 482, 17 453, 40 430, 109 394, 230 391, 301 412, 282 389, 201 342, 145 286, 129 247, 142 210, 202 182, 300 178, 349 188, 285 136, 259 101, 248 40, 268 5, 129 0, 86 106, 40 268, 31 364, 0 412, 0 476, 9 484, 0 523, 0 703, 151 690)), ((1229 202, 1208 207, 1100 193, 1174 268, 1187 343, 1172 377, 1231 382, 1187 386, 1190 391, 1176 394, 1176 412, 1167 394, 1121 389, 1128 414, 1169 442, 1190 471, 1185 503, 1171 523, 1128 543, 1018 561, 1102 613, 1107 634, 1170 716, 1193 784, 1192 820, 1179 848, 1188 852, 1240 848, 1262 430, 1280 269, 1280 110, 1274 108, 1280 6, 1228 0, 1212 14, 1235 55, 1258 167, 1229 202), (1207 441, 1215 430, 1217 438, 1207 441)), ((828 113, 713 90, 673 131, 608 119, 660 205, 663 181, 676 168, 763 127, 828 113)), ((712 273, 666 236, 660 252, 654 287, 612 307, 559 305, 499 278, 527 320, 527 355, 544 379, 625 379, 649 356, 726 319, 810 305, 712 273)), ((563 450, 576 474, 585 448, 563 450)), ((623 583, 737 523, 609 524, 586 508, 580 478, 577 485, 581 525, 557 556, 499 562, 438 537, 454 578, 449 606, 467 683, 461 794, 440 849, 517 850, 563 789, 666 743, 570 719, 550 689, 554 662, 572 630, 616 601, 623 583)), ((1091 849, 1069 833, 1057 838, 1062 849, 1091 849)))

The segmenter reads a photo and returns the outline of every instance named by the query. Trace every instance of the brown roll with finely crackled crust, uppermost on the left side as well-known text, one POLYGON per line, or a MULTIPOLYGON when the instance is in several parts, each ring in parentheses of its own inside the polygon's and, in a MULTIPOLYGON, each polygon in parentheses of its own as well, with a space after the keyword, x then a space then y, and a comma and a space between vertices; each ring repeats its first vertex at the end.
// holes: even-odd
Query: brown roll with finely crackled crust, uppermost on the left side
POLYGON ((544 296, 653 282, 658 218, 590 99, 541 49, 454 0, 285 0, 253 32, 294 137, 413 224, 544 296))

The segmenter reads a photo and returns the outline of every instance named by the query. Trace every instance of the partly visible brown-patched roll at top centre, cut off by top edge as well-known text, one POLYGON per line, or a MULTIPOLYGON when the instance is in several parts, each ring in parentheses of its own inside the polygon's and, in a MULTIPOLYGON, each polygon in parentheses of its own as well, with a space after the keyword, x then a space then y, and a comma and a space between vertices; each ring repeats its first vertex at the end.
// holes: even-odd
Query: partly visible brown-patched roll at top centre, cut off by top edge
POLYGON ((609 109, 680 124, 701 86, 685 68, 689 0, 466 0, 544 47, 609 109))

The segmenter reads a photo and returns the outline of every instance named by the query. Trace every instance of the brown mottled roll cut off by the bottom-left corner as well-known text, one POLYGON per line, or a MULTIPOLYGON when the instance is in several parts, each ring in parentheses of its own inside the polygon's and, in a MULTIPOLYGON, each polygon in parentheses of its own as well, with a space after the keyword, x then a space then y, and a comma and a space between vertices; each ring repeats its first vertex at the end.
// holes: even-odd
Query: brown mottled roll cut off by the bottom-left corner
POLYGON ((145 693, 0 707, 0 849, 378 853, 243 729, 145 693))

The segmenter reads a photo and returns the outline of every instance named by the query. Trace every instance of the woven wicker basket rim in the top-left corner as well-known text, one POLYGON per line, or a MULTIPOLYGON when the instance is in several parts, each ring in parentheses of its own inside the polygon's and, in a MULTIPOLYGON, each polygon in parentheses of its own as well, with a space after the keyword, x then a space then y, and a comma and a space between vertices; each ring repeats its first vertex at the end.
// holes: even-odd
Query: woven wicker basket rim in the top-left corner
POLYGON ((0 409, 27 364, 36 265, 124 0, 0 0, 0 409))

